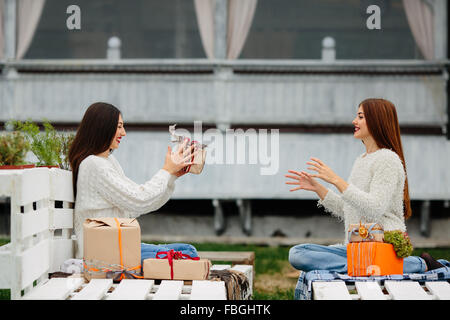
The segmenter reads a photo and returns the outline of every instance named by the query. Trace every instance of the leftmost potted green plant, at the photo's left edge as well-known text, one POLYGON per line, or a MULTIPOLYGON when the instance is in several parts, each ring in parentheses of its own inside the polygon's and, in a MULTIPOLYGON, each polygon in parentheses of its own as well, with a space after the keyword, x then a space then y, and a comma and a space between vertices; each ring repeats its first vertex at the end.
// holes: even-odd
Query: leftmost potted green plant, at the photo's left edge
POLYGON ((27 164, 25 157, 30 151, 30 144, 25 136, 18 131, 0 135, 0 169, 33 168, 34 164, 27 164))

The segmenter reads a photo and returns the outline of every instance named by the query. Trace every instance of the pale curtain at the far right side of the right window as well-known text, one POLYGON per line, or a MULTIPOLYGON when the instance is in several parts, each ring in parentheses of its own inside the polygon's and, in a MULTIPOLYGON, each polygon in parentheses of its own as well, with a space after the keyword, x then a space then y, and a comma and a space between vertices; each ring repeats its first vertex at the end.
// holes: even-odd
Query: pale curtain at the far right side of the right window
POLYGON ((403 0, 406 17, 414 40, 426 60, 434 58, 434 17, 431 3, 425 0, 403 0))

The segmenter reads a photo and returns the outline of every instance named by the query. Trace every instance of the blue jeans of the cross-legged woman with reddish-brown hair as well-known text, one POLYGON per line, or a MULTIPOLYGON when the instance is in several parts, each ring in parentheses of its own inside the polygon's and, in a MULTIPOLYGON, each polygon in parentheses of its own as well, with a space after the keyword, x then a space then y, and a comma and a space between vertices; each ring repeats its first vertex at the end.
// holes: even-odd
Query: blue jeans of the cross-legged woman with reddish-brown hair
MULTIPOLYGON (((306 272, 328 270, 347 273, 347 246, 299 244, 289 250, 289 262, 294 268, 306 272)), ((422 273, 425 268, 422 258, 410 256, 403 259, 403 273, 422 273)))

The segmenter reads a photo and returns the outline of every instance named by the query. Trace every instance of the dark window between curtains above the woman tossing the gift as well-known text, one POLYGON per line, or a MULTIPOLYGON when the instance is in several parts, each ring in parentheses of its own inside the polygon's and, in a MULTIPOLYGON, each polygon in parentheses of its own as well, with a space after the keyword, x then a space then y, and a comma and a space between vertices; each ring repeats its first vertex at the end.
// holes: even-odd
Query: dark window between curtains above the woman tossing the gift
POLYGON ((47 0, 25 59, 102 59, 117 36, 122 58, 204 58, 191 0, 47 0), (81 9, 68 30, 66 9, 81 9))

